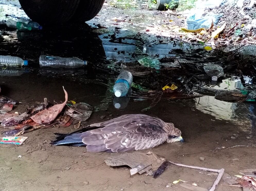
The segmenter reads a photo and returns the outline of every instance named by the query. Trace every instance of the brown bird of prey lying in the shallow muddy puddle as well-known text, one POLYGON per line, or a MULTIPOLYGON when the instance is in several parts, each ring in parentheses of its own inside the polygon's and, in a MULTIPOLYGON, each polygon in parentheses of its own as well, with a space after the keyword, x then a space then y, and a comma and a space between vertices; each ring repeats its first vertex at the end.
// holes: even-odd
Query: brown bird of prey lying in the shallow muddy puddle
POLYGON ((164 142, 184 142, 173 123, 142 114, 122 115, 58 135, 51 144, 86 146, 89 152, 124 152, 153 148, 164 142))

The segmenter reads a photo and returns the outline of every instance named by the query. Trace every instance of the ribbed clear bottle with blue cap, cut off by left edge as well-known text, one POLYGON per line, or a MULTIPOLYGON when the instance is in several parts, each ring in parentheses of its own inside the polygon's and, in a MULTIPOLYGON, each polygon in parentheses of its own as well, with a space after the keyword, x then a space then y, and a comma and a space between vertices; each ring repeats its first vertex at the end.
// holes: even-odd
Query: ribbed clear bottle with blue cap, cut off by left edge
POLYGON ((27 66, 28 61, 16 56, 0 56, 0 66, 20 67, 27 66))

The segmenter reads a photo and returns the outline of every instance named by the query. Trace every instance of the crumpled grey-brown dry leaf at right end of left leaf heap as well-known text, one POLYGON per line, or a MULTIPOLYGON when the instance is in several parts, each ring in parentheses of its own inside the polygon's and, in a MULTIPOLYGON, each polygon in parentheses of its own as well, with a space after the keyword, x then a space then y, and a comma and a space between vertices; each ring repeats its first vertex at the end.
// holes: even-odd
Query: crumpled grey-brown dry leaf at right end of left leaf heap
POLYGON ((78 103, 72 105, 66 110, 66 114, 74 119, 86 121, 92 114, 93 107, 87 103, 78 103))

